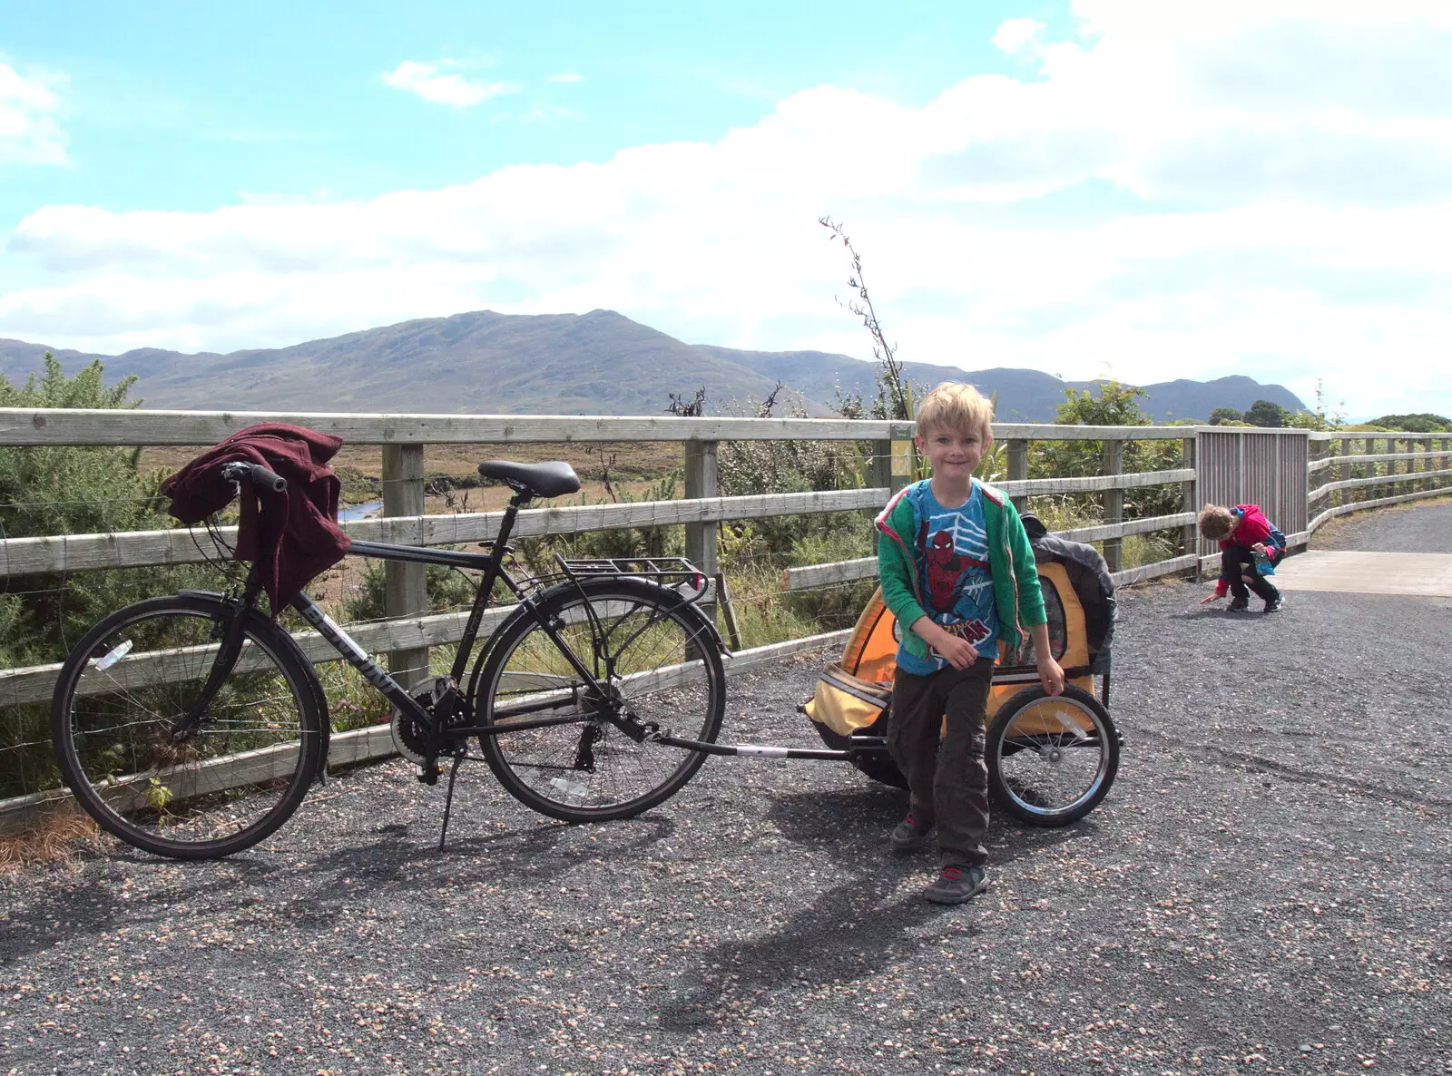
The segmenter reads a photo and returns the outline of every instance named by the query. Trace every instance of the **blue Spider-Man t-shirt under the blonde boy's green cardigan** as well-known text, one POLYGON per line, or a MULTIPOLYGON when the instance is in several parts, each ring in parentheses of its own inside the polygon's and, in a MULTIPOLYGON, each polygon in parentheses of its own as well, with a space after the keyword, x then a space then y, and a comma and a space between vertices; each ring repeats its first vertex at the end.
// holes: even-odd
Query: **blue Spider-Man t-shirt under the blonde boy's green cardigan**
MULTIPOLYGON (((923 611, 941 627, 967 639, 983 658, 998 656, 998 608, 993 604, 993 575, 989 571, 989 534, 983 518, 983 492, 977 484, 967 501, 944 508, 922 484, 913 498, 918 533, 912 555, 918 566, 923 611)), ((925 677, 948 664, 937 651, 928 659, 897 649, 903 672, 925 677)))

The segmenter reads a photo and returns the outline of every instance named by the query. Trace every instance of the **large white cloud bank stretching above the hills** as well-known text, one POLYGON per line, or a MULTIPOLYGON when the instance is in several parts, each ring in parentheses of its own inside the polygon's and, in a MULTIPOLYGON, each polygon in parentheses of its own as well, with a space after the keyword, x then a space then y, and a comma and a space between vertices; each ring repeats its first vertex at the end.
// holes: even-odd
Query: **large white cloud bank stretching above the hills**
MULTIPOLYGON (((677 337, 841 350, 847 222, 902 357, 1130 380, 1246 373, 1353 414, 1452 412, 1452 4, 1079 0, 1037 70, 910 107, 817 87, 706 142, 369 202, 46 206, 0 335, 296 343, 414 317, 608 306, 677 337), (1327 57, 1336 68, 1324 73, 1327 57), (1397 76, 1392 78, 1392 76, 1397 76), (1246 86, 1252 86, 1246 89, 1246 86), (1440 94, 1440 96, 1439 96, 1440 94), (1388 373, 1391 376, 1388 376, 1388 373)), ((1032 41, 1032 48, 1027 42, 1032 41)))

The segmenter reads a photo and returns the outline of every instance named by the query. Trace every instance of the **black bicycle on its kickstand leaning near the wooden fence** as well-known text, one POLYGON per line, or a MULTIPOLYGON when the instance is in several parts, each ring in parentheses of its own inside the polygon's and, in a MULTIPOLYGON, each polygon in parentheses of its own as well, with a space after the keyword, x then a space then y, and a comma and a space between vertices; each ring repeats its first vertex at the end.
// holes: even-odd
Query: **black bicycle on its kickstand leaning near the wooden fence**
MULTIPOLYGON (((224 463, 234 482, 286 481, 224 463)), ((476 739, 521 803, 566 822, 630 818, 700 768, 725 712, 722 643, 697 607, 704 576, 681 558, 566 561, 514 578, 507 545, 520 508, 579 489, 568 463, 479 465, 514 495, 488 553, 353 542, 350 555, 476 569, 482 579, 447 675, 409 693, 306 594, 302 619, 392 706, 399 752, 436 784, 452 759, 440 848, 459 764, 476 739), (488 636, 460 690, 495 584, 517 608, 488 636), (675 736, 666 717, 685 722, 675 736), (694 749, 693 749, 694 745, 694 749)), ((65 784, 126 844, 179 860, 221 858, 273 834, 327 778, 328 700, 298 640, 257 608, 253 565, 227 592, 180 591, 96 624, 61 667, 51 732, 65 784)))

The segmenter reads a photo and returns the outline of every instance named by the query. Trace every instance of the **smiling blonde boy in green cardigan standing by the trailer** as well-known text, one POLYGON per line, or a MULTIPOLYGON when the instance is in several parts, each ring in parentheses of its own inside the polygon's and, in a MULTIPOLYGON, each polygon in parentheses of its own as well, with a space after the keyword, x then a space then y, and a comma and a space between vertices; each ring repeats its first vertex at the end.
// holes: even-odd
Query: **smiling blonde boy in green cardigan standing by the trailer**
POLYGON ((923 896, 947 905, 989 884, 983 725, 1000 643, 1031 635, 1044 690, 1064 690, 1024 524, 1012 501, 973 478, 993 443, 992 423, 993 405, 971 385, 929 392, 915 440, 932 478, 877 517, 883 600, 903 629, 887 749, 910 791, 892 845, 910 851, 937 828, 939 874, 923 896))

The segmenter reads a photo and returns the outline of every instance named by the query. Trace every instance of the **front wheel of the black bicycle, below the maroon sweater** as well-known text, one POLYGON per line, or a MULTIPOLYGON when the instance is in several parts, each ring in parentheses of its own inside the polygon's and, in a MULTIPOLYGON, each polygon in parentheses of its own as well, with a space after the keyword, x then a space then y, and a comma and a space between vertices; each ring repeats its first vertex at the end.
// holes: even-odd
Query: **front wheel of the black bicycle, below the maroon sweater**
POLYGON ((77 802, 126 844, 231 855, 286 822, 317 774, 324 717, 311 678, 256 611, 202 595, 141 601, 87 632, 61 667, 57 761, 77 802), (235 616, 241 651, 213 675, 235 616))

